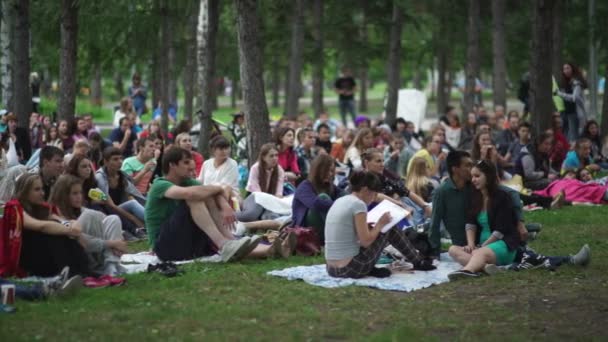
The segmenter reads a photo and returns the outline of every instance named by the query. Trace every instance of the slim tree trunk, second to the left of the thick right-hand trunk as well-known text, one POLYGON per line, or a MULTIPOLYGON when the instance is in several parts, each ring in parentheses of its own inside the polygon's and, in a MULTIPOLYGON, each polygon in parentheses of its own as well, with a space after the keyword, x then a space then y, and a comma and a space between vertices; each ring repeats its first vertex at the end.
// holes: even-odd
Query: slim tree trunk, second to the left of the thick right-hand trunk
POLYGON ((464 90, 464 112, 473 111, 475 104, 475 86, 479 77, 480 48, 479 31, 480 24, 479 0, 469 0, 468 26, 467 26, 467 65, 464 90))

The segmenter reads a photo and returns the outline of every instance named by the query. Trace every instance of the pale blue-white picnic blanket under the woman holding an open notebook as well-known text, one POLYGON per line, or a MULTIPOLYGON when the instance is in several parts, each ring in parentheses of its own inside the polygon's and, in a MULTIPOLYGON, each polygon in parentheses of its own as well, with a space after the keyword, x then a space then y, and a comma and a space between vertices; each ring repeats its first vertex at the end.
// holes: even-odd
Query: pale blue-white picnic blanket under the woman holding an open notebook
MULTIPOLYGON (((379 265, 380 266, 380 265, 379 265)), ((283 270, 270 271, 269 275, 287 278, 288 280, 304 280, 306 283, 325 288, 343 286, 365 286, 380 290, 410 292, 432 285, 448 282, 448 273, 459 270, 461 266, 453 261, 447 253, 441 255, 441 262, 436 264, 434 271, 414 271, 412 273, 393 273, 388 278, 366 277, 361 279, 333 278, 327 274, 325 265, 296 266, 283 270)))

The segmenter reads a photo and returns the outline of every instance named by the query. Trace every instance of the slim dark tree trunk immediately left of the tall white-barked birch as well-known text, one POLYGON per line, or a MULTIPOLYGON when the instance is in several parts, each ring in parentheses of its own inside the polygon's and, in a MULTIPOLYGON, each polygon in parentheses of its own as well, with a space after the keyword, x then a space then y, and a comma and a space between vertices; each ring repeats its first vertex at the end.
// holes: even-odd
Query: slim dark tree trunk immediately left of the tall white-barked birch
POLYGON ((192 120, 194 106, 195 76, 197 74, 197 43, 200 2, 194 1, 193 8, 188 14, 188 28, 186 30, 186 66, 182 80, 184 82, 184 119, 192 120))

